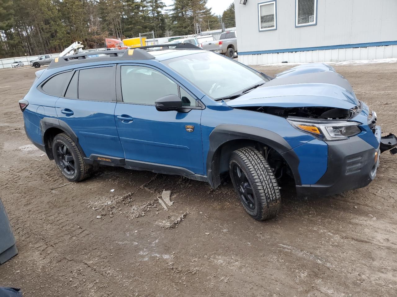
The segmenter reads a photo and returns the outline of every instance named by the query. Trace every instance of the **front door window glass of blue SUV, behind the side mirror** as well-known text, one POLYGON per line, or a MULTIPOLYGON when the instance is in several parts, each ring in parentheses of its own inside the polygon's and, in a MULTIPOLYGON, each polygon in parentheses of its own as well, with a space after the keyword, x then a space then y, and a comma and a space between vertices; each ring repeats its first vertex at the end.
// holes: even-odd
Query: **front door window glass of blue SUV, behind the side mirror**
MULTIPOLYGON (((179 96, 178 85, 157 70, 141 66, 121 66, 121 93, 123 102, 154 105, 166 95, 179 96)), ((195 106, 196 100, 184 91, 182 104, 195 106)))

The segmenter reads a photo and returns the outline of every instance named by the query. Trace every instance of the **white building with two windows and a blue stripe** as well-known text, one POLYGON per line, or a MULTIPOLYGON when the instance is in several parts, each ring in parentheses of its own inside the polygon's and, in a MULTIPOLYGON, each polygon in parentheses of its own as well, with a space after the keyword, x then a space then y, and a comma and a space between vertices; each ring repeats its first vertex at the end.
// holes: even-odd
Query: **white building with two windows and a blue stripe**
POLYGON ((247 65, 397 58, 397 0, 235 0, 235 13, 247 65))

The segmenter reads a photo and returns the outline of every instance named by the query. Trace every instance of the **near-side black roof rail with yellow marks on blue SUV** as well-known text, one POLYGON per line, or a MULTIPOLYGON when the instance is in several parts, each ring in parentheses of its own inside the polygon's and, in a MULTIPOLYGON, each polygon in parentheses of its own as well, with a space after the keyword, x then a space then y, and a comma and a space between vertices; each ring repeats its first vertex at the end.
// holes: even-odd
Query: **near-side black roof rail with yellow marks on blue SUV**
POLYGON ((147 51, 139 48, 133 49, 114 49, 104 51, 89 51, 75 55, 56 57, 48 66, 48 69, 62 67, 66 65, 97 62, 97 61, 117 61, 117 60, 152 60, 155 59, 147 51), (100 55, 98 57, 90 57, 100 55))

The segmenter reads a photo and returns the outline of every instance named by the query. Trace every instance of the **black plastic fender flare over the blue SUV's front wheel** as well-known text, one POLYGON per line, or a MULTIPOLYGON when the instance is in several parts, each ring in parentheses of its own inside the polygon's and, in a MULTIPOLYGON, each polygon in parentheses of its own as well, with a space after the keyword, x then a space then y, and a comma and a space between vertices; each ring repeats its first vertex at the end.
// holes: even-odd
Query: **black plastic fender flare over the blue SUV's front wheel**
POLYGON ((220 185, 220 172, 219 168, 217 168, 218 160, 216 160, 217 154, 220 153, 219 148, 224 143, 237 139, 264 143, 274 148, 274 150, 283 156, 291 168, 295 184, 301 185, 301 177, 298 171, 299 158, 283 137, 273 131, 262 128, 236 124, 220 124, 212 130, 209 136, 210 149, 208 150, 206 167, 208 182, 212 188, 217 188, 220 185))

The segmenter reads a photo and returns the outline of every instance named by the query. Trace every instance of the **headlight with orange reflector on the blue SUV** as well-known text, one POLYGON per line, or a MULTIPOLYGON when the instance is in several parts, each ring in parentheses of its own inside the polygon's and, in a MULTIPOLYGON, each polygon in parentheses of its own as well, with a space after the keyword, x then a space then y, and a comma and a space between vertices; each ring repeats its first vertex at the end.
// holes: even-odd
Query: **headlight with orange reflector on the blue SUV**
POLYGON ((348 139, 361 132, 356 122, 333 122, 333 123, 316 123, 316 122, 299 122, 296 120, 287 120, 296 129, 309 133, 314 137, 324 141, 335 141, 348 139))

